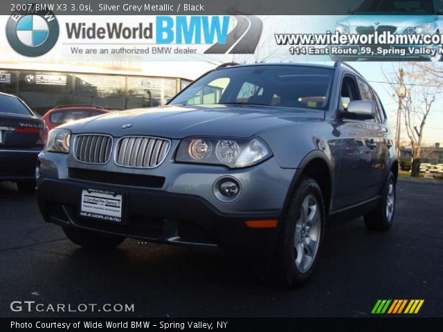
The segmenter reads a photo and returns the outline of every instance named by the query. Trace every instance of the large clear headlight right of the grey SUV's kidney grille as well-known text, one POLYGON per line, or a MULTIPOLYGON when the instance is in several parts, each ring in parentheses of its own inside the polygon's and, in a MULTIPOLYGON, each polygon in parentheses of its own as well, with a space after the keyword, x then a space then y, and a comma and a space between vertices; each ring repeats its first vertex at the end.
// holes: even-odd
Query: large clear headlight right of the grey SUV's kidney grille
POLYGON ((248 167, 272 156, 271 149, 260 138, 185 138, 175 160, 181 163, 248 167))

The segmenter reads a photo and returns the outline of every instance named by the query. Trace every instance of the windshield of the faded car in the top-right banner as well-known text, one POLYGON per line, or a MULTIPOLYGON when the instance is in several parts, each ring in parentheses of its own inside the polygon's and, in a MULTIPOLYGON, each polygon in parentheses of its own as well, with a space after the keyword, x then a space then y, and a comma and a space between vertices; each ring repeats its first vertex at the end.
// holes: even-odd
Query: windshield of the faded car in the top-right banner
POLYGON ((434 5, 433 0, 366 0, 356 12, 407 12, 423 15, 433 14, 434 5))

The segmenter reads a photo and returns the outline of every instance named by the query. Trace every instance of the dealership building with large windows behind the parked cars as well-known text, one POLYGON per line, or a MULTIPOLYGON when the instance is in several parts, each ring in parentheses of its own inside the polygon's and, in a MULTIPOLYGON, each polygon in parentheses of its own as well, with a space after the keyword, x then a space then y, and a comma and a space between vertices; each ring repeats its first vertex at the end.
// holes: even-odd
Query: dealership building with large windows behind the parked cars
POLYGON ((168 102, 191 81, 134 73, 93 70, 52 71, 1 68, 0 92, 17 95, 40 115, 57 105, 98 105, 123 110, 155 107, 168 102))

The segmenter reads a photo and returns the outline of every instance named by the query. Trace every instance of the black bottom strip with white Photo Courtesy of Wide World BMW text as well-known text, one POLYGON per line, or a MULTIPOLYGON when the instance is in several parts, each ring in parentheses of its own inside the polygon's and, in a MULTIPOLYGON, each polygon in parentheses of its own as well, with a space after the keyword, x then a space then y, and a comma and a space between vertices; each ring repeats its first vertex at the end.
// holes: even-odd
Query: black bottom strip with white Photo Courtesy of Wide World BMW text
MULTIPOLYGON (((437 331, 443 318, 0 318, 0 331, 437 331)), ((440 330, 441 331, 441 330, 440 330)))

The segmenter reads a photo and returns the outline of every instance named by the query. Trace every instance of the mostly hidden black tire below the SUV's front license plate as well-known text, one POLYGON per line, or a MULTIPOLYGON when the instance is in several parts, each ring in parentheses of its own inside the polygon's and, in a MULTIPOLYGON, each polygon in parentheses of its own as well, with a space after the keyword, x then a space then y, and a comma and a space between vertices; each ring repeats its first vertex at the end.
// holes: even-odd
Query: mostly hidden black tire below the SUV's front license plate
POLYGON ((125 237, 80 228, 64 227, 63 232, 71 242, 88 249, 114 248, 125 241, 125 237))

